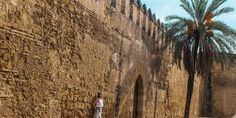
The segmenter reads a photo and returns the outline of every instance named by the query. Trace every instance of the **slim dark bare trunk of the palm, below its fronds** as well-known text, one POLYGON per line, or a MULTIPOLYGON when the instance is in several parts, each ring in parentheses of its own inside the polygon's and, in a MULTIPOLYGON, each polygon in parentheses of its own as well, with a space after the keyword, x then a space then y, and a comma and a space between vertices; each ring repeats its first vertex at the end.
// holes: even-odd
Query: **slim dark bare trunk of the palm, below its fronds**
POLYGON ((192 94, 193 94, 193 86, 194 86, 194 73, 191 73, 191 74, 189 74, 189 77, 188 77, 184 118, 189 118, 190 105, 191 105, 191 99, 192 99, 192 94))

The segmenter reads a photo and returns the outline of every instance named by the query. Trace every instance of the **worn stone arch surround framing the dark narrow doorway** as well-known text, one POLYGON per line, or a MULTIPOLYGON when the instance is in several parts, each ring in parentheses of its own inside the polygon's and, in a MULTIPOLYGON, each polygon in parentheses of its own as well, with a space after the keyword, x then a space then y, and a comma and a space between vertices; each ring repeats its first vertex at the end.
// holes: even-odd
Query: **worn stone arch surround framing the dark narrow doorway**
MULTIPOLYGON (((146 111, 146 89, 147 89, 147 80, 149 80, 148 76, 148 68, 145 66, 146 64, 138 62, 136 66, 127 72, 123 81, 121 82, 120 86, 120 97, 119 97, 119 106, 118 106, 118 118, 133 118, 133 111, 134 111, 134 92, 135 92, 135 85, 137 83, 141 84, 141 107, 139 111, 141 111, 141 115, 138 118, 144 118, 145 111, 146 111), (138 81, 137 81, 138 80, 138 81), (140 81, 142 80, 142 81, 140 81), (127 106, 128 105, 128 106, 127 106)), ((140 84, 139 84, 140 85, 140 84)), ((139 86, 137 85, 137 86, 139 86)), ((140 98, 140 96, 138 97, 140 98)))

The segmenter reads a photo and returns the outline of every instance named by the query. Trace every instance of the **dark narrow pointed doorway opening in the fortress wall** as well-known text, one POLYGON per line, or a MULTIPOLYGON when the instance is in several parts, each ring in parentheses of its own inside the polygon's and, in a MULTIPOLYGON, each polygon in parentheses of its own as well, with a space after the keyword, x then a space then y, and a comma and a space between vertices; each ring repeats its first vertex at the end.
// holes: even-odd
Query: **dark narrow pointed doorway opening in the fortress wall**
POLYGON ((142 118, 143 111, 143 80, 139 76, 135 82, 134 102, 133 102, 133 118, 142 118))

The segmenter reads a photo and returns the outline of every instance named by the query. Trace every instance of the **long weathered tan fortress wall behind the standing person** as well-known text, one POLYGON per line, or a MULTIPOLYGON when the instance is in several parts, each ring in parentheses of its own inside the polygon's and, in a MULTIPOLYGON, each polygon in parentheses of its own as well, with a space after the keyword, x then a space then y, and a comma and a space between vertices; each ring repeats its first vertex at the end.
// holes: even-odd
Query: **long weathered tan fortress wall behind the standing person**
POLYGON ((99 91, 105 118, 183 116, 188 76, 161 50, 164 28, 145 5, 0 0, 0 9, 0 117, 89 118, 99 91))

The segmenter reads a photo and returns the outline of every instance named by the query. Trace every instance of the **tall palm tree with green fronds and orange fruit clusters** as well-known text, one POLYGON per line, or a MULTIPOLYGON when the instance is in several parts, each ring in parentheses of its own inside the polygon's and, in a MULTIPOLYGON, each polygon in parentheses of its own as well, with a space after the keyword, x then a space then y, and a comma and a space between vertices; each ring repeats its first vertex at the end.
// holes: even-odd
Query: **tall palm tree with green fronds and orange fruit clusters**
POLYGON ((227 0, 180 0, 180 6, 190 18, 166 17, 166 44, 172 45, 173 62, 183 62, 188 84, 184 118, 189 118, 194 76, 209 75, 214 62, 227 63, 228 54, 235 51, 236 30, 216 16, 232 12, 231 7, 219 8, 227 0), (234 40, 234 41, 233 41, 234 40))

